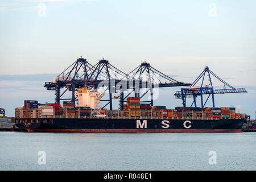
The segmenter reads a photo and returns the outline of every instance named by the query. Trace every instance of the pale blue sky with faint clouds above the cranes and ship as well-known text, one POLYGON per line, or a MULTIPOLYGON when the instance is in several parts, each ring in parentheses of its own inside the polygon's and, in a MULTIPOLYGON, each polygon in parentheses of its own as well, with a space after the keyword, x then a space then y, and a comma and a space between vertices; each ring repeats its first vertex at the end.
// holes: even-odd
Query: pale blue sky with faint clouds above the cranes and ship
MULTIPOLYGON (((255 1, 228 0, 2 0, 0 107, 8 108, 7 113, 13 115, 18 106, 15 98, 21 101, 19 106, 27 94, 34 97, 34 93, 44 102, 54 98, 54 93, 43 88, 49 77, 30 81, 8 75, 58 75, 83 56, 91 64, 104 57, 126 73, 146 60, 184 82, 193 82, 208 65, 229 84, 251 91, 244 108, 254 118, 255 7, 255 1), (21 91, 20 86, 26 86, 27 91, 21 91)), ((170 97, 175 100, 173 93, 170 97)), ((220 98, 225 102, 245 96, 220 98)))

